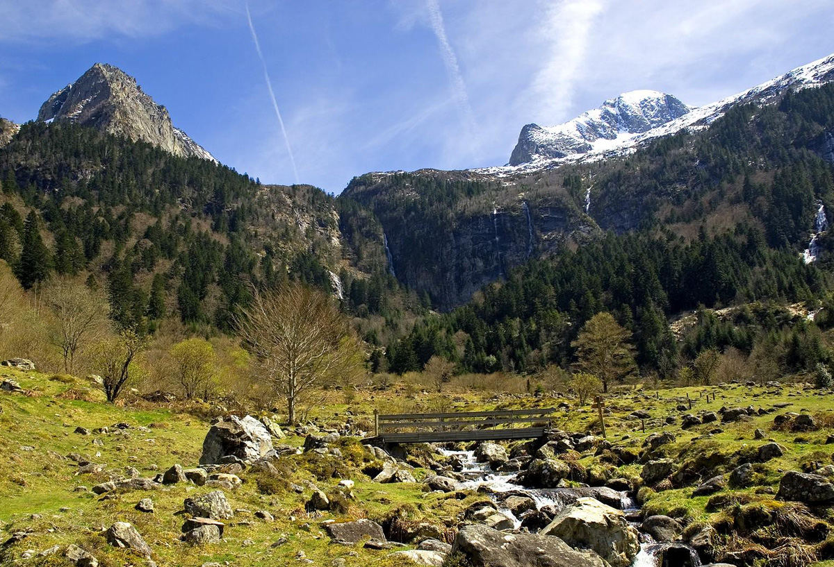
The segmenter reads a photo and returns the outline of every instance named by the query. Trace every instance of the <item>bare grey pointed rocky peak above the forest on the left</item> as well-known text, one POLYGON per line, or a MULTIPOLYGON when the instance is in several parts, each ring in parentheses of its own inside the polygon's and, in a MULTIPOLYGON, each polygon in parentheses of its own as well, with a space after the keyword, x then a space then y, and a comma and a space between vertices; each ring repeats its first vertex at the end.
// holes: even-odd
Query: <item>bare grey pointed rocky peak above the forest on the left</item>
POLYGON ((175 156, 216 162, 185 132, 173 127, 168 110, 143 92, 136 79, 103 63, 96 63, 78 81, 53 93, 41 106, 38 120, 74 122, 152 143, 175 156))

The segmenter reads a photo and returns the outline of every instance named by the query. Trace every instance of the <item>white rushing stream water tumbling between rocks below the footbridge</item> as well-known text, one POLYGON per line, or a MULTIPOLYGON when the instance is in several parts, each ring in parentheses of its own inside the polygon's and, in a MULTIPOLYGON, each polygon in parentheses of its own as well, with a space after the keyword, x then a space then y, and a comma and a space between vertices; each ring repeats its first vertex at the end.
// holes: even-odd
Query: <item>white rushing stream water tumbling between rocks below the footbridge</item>
MULTIPOLYGON (((502 473, 495 472, 490 469, 488 463, 479 463, 475 459, 475 451, 468 450, 445 450, 441 449, 440 453, 447 457, 457 455, 463 463, 463 470, 460 474, 465 477, 465 481, 461 483, 462 488, 470 490, 484 489, 488 495, 500 494, 503 492, 513 492, 530 496, 535 500, 536 508, 541 510, 544 506, 555 506, 557 510, 561 510, 568 505, 562 495, 569 495, 570 488, 552 488, 552 489, 535 489, 527 488, 526 486, 516 485, 512 482, 515 479, 516 473, 502 473)), ((640 527, 639 513, 640 508, 637 506, 635 500, 631 497, 628 491, 622 490, 620 492, 620 510, 625 512, 629 523, 636 529, 640 527)), ((495 499, 494 499, 495 500, 495 499)), ((567 499, 570 501, 570 499, 567 499)), ((513 520, 515 529, 519 529, 521 520, 515 517, 512 511, 500 505, 500 502, 495 502, 499 505, 498 510, 501 514, 506 515, 513 520)), ((632 567, 660 567, 661 553, 668 547, 667 544, 658 544, 651 539, 651 536, 640 533, 640 552, 636 555, 632 567)), ((701 565, 695 550, 691 550, 692 565, 701 565)))

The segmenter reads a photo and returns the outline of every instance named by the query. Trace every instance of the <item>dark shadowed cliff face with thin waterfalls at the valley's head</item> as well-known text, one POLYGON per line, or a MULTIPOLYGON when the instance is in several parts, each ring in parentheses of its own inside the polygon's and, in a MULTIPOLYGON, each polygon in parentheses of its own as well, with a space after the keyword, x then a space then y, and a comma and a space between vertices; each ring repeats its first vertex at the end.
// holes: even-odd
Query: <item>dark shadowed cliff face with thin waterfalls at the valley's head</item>
POLYGON ((425 170, 399 173, 394 180, 371 174, 354 180, 343 193, 374 211, 384 230, 379 240, 387 242, 389 267, 399 282, 428 292, 440 309, 469 301, 482 286, 528 259, 599 232, 573 200, 555 191, 528 198, 520 187, 485 185, 480 194, 434 206, 426 179, 447 187, 466 175, 425 170), (515 194, 507 198, 508 193, 515 194))

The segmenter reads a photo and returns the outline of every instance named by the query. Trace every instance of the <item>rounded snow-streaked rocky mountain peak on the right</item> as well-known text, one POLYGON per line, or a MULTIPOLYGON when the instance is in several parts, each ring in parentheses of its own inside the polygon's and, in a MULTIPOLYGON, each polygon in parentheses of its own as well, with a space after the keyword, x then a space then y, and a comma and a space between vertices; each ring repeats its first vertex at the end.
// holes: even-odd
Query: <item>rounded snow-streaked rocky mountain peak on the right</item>
POLYGON ((690 110, 664 92, 624 92, 564 124, 526 125, 510 156, 510 165, 592 152, 671 122, 690 110))

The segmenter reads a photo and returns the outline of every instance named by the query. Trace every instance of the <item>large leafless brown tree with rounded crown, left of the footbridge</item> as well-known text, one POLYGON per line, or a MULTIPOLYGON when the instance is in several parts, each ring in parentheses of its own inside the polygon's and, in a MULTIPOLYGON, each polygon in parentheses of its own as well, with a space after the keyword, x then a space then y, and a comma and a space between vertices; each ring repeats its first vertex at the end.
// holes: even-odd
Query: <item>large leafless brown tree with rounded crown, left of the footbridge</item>
POLYGON ((297 283, 256 293, 252 305, 234 321, 269 387, 286 401, 293 425, 302 396, 336 383, 359 351, 332 299, 297 283))

